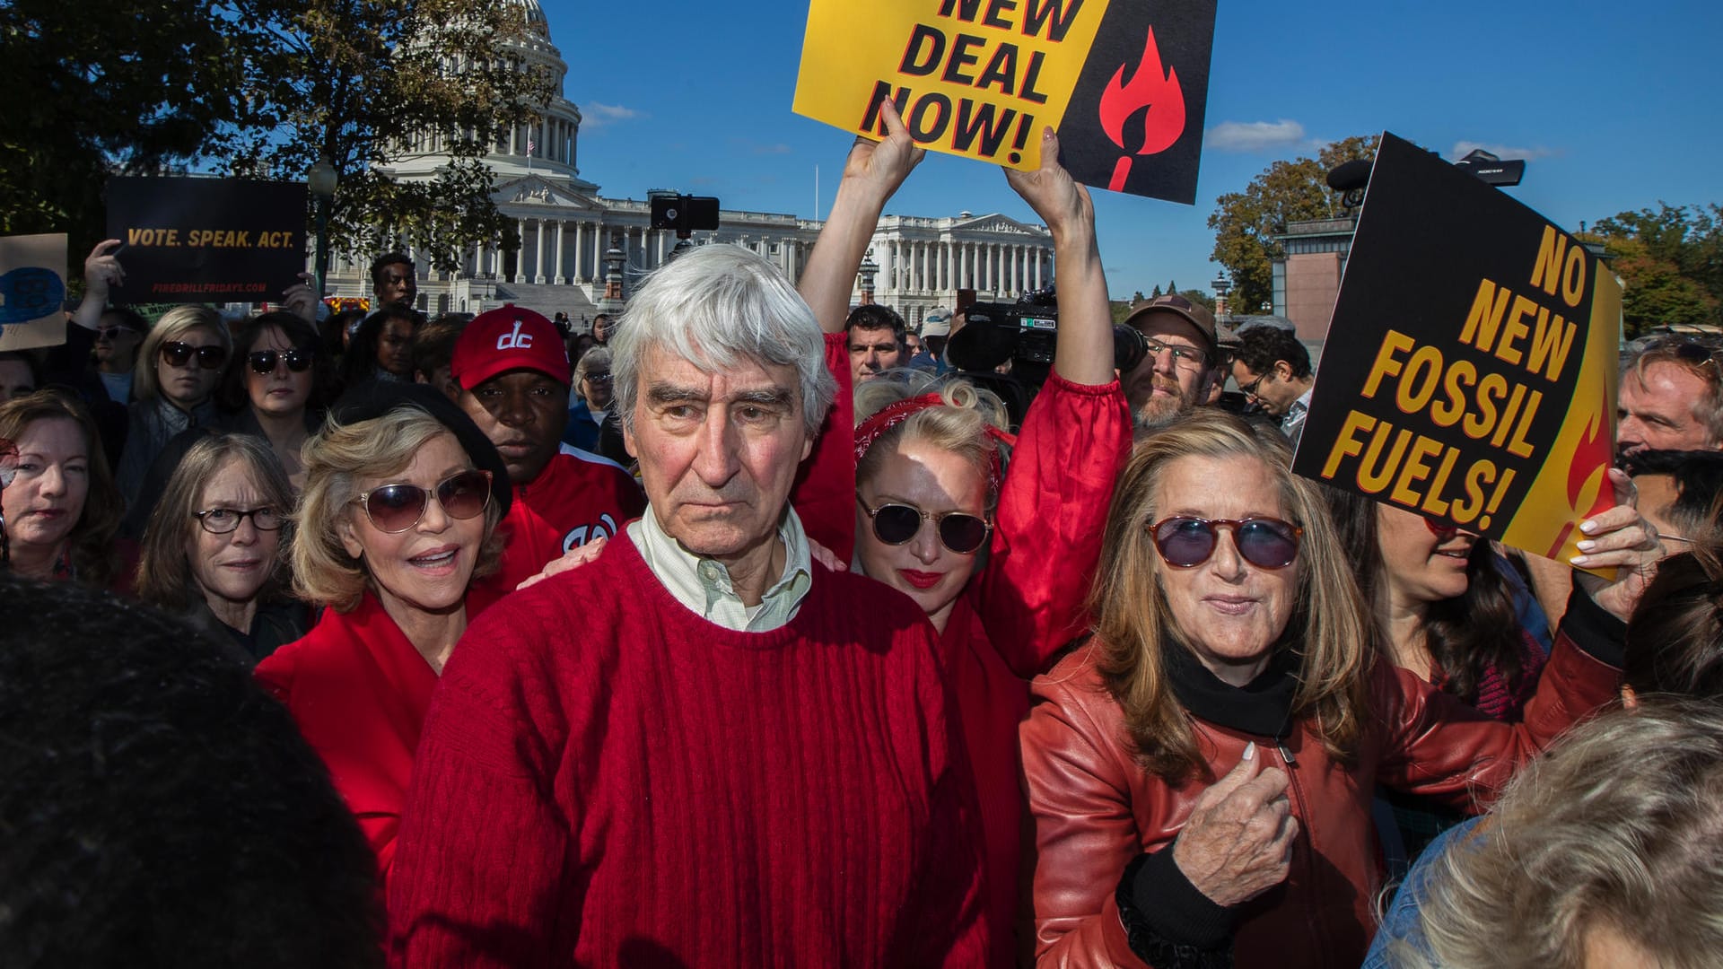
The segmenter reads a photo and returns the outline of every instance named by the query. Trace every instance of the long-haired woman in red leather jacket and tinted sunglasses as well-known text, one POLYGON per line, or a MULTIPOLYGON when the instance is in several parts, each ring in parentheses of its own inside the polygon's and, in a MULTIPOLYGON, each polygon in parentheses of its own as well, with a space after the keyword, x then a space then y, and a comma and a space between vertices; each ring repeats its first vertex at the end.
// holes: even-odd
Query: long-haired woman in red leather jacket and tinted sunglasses
POLYGON ((1578 574, 1520 724, 1366 650, 1320 486, 1273 429, 1199 412, 1120 478, 1096 638, 1034 683, 1023 772, 1042 966, 1356 966, 1380 859, 1377 783, 1470 807, 1614 698, 1621 619, 1658 557, 1623 502, 1578 574))

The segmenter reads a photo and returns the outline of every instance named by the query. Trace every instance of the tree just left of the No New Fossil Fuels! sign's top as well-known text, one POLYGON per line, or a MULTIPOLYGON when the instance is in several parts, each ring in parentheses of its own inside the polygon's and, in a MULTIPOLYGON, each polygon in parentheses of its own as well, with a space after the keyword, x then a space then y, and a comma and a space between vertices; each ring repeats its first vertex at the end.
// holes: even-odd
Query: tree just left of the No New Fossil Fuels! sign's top
POLYGON ((1332 219, 1342 212, 1340 193, 1328 188, 1328 171, 1354 159, 1372 159, 1378 136, 1332 141, 1315 159, 1278 160, 1246 186, 1215 200, 1208 228, 1215 229, 1211 259, 1232 276, 1228 302, 1251 312, 1273 298, 1273 260, 1284 253, 1273 236, 1287 222, 1332 219))

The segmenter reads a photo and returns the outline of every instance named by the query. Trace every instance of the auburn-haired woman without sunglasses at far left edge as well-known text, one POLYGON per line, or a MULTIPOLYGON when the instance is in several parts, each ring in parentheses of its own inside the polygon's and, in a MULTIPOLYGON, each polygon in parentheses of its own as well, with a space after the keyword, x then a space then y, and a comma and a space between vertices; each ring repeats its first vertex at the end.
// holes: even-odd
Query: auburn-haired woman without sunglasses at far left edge
POLYGON ((0 440, 17 452, 0 490, 5 567, 34 579, 109 585, 119 571, 121 497, 90 412, 69 393, 40 390, 0 403, 0 440))

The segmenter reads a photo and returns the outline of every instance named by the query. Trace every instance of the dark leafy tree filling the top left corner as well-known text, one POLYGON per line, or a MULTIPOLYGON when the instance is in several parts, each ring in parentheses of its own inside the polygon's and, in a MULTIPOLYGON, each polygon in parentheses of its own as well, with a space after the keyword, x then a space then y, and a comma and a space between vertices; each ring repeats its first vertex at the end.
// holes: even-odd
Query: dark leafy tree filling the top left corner
POLYGON ((0 3, 0 233, 105 229, 110 174, 231 148, 248 105, 243 38, 210 0, 0 3))

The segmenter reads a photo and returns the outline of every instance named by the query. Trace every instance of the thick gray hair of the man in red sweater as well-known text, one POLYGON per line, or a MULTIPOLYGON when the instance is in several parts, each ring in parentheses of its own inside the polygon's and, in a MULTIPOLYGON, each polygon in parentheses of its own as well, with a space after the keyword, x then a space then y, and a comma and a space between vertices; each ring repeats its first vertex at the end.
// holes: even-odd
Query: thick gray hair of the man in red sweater
POLYGON ((796 367, 808 436, 818 433, 837 393, 813 310, 775 266, 736 245, 684 252, 629 300, 610 338, 624 428, 634 426, 641 359, 653 347, 708 374, 741 360, 796 367))

